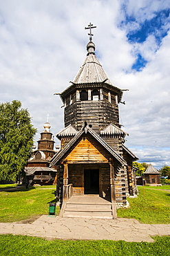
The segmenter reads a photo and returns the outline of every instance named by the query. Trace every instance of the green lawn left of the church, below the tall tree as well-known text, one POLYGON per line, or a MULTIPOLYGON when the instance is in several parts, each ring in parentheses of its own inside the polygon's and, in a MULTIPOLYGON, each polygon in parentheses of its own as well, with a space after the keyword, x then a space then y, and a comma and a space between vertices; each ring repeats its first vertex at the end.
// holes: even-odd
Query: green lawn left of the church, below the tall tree
MULTIPOLYGON (((0 192, 0 222, 35 219, 41 214, 48 214, 49 203, 55 199, 56 186, 6 188, 0 188, 3 190, 0 192)), ((59 207, 56 212, 59 212, 59 207)))

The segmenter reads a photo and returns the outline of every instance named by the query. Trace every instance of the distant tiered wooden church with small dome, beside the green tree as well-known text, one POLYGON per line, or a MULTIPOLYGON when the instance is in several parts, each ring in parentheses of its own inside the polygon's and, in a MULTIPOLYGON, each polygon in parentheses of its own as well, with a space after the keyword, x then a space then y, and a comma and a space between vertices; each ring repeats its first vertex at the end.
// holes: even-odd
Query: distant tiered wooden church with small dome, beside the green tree
POLYGON ((25 167, 26 179, 30 183, 39 185, 56 184, 56 167, 50 168, 50 160, 56 154, 50 127, 50 123, 45 122, 44 131, 41 132, 41 138, 38 141, 38 149, 34 150, 25 167))

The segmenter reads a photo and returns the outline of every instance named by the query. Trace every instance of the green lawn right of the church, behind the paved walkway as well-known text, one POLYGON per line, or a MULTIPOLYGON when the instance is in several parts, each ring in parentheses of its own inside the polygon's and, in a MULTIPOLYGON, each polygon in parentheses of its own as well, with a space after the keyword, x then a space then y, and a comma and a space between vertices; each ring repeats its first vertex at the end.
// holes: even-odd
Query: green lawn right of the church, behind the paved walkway
POLYGON ((134 218, 142 223, 170 223, 170 192, 160 187, 150 188, 138 187, 138 197, 128 199, 130 208, 118 209, 118 217, 134 218))

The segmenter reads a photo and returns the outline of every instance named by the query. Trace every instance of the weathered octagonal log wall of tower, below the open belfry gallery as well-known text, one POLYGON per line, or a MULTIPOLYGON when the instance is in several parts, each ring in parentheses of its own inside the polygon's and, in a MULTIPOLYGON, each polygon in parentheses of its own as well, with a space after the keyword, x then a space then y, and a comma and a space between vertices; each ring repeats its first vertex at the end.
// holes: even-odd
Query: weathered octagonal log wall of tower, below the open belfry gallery
POLYGON ((118 125, 118 105, 105 100, 85 100, 65 107, 65 127, 71 124, 80 130, 85 121, 98 134, 110 123, 118 125))

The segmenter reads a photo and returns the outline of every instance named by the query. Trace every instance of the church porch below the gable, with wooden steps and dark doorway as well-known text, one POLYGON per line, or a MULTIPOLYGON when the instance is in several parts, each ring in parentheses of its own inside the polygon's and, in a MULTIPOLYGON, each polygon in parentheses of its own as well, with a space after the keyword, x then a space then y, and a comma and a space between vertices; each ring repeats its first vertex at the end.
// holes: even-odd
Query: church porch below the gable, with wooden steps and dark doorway
POLYGON ((60 216, 116 218, 111 166, 109 163, 64 164, 60 216))

